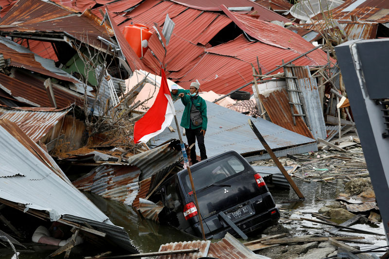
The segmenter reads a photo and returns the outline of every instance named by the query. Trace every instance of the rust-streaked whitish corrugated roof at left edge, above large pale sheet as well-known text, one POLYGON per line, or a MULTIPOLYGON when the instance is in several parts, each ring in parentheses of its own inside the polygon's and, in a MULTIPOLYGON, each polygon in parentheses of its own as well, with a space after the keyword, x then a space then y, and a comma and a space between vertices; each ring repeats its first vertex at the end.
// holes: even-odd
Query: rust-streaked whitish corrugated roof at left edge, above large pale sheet
POLYGON ((44 137, 71 108, 53 111, 0 108, 0 119, 15 122, 34 142, 44 137))

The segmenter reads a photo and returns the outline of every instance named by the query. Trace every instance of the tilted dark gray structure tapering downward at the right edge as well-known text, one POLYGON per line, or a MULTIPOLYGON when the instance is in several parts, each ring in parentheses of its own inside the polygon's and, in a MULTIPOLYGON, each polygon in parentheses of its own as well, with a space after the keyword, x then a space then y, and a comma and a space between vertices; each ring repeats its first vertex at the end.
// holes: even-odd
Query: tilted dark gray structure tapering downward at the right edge
POLYGON ((335 50, 389 243, 389 39, 335 50))

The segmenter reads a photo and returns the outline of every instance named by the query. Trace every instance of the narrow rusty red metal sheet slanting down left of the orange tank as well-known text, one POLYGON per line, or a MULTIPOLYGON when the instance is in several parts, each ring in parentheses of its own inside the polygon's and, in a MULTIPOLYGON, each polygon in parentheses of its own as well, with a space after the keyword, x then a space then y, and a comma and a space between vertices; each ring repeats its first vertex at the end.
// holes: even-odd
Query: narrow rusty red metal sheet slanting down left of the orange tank
POLYGON ((118 28, 117 24, 113 21, 111 14, 107 12, 107 15, 109 17, 112 30, 115 33, 116 40, 118 41, 120 50, 123 53, 125 60, 127 61, 127 64, 130 67, 130 69, 132 71, 136 69, 145 70, 143 63, 140 61, 140 59, 138 58, 134 50, 130 47, 130 44, 128 44, 121 30, 118 28))

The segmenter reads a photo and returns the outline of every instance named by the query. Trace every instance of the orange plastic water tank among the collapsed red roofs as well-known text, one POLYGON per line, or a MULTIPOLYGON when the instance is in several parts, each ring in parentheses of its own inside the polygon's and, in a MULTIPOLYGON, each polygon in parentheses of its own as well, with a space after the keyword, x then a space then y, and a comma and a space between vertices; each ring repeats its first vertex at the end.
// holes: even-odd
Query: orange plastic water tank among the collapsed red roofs
POLYGON ((152 33, 146 25, 135 23, 124 27, 124 37, 131 48, 142 57, 148 48, 148 40, 152 33))

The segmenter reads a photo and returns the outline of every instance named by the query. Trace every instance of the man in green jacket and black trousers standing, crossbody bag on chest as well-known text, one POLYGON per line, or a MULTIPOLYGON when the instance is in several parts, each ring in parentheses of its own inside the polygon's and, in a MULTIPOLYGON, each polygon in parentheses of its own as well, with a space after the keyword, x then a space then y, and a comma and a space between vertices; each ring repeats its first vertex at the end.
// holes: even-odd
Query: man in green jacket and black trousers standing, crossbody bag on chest
MULTIPOLYGON (((196 142, 198 149, 200 150, 201 160, 207 159, 207 152, 204 145, 205 131, 207 130, 207 104, 204 99, 198 95, 199 84, 192 82, 189 87, 190 94, 179 93, 178 97, 181 98, 182 104, 185 105, 184 112, 182 113, 181 126, 185 128, 185 135, 188 140, 188 145, 191 146, 196 142), (194 104, 194 107, 192 107, 194 104), (198 115, 197 120, 191 119, 194 115, 198 115)), ((196 116, 195 116, 196 117, 196 116)), ((196 147, 193 145, 191 148, 191 161, 192 164, 197 163, 196 147)))

